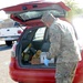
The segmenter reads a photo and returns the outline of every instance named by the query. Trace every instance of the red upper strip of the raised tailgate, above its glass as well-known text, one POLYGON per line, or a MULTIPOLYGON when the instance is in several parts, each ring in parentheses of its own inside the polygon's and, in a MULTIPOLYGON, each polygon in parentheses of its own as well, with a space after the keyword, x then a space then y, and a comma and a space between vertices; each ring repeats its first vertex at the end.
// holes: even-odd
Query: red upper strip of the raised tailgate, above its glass
POLYGON ((52 4, 59 4, 61 6, 64 10, 69 11, 70 8, 66 7, 63 2, 42 2, 42 1, 35 1, 35 2, 28 2, 28 3, 21 3, 21 4, 18 4, 18 6, 13 6, 13 7, 9 7, 9 8, 3 8, 3 9, 0 9, 0 10, 4 10, 7 13, 13 13, 13 12, 21 12, 23 11, 23 7, 25 7, 27 10, 35 10, 37 8, 32 7, 33 4, 37 4, 39 9, 42 9, 42 8, 45 8, 45 7, 49 7, 49 6, 52 6, 52 4))

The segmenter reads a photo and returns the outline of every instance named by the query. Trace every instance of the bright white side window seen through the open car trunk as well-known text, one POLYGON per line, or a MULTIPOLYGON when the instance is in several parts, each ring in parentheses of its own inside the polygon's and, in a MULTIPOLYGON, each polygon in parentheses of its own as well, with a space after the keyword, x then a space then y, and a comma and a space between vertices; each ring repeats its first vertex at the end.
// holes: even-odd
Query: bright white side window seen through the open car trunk
POLYGON ((33 41, 43 40, 44 39, 45 29, 46 29, 45 27, 38 29, 35 34, 34 34, 33 41))

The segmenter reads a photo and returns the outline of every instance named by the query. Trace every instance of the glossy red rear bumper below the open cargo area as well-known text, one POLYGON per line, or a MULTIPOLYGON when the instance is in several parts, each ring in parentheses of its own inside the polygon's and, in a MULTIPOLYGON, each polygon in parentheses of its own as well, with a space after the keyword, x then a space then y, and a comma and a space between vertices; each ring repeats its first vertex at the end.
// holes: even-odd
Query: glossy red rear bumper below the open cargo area
POLYGON ((11 79, 17 82, 55 83, 54 69, 15 69, 11 63, 9 73, 11 79))

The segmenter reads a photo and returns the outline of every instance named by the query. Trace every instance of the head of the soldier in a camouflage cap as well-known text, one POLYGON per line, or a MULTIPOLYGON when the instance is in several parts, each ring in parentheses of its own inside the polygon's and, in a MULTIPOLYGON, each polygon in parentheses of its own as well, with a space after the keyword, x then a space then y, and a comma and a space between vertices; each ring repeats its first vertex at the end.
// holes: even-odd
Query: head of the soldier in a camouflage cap
POLYGON ((46 25, 46 27, 50 27, 54 21, 55 21, 55 18, 52 13, 50 12, 45 12, 43 15, 42 15, 42 19, 41 21, 46 25))

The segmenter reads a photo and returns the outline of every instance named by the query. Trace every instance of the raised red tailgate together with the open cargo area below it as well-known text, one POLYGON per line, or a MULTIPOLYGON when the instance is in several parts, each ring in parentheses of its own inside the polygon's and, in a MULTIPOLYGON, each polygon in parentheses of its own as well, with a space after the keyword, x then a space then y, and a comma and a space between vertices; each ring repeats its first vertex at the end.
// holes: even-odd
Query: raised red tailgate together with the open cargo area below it
MULTIPOLYGON (((14 21, 27 25, 15 50, 19 65, 22 68, 45 68, 43 60, 49 51, 50 42, 48 28, 43 25, 41 17, 49 11, 54 17, 64 19, 70 8, 62 1, 34 1, 1 10, 10 13, 11 19, 14 21), (37 55, 37 53, 39 54, 37 55), (33 59, 34 62, 32 61, 33 59)), ((51 60, 48 68, 55 68, 55 59, 51 60)))

